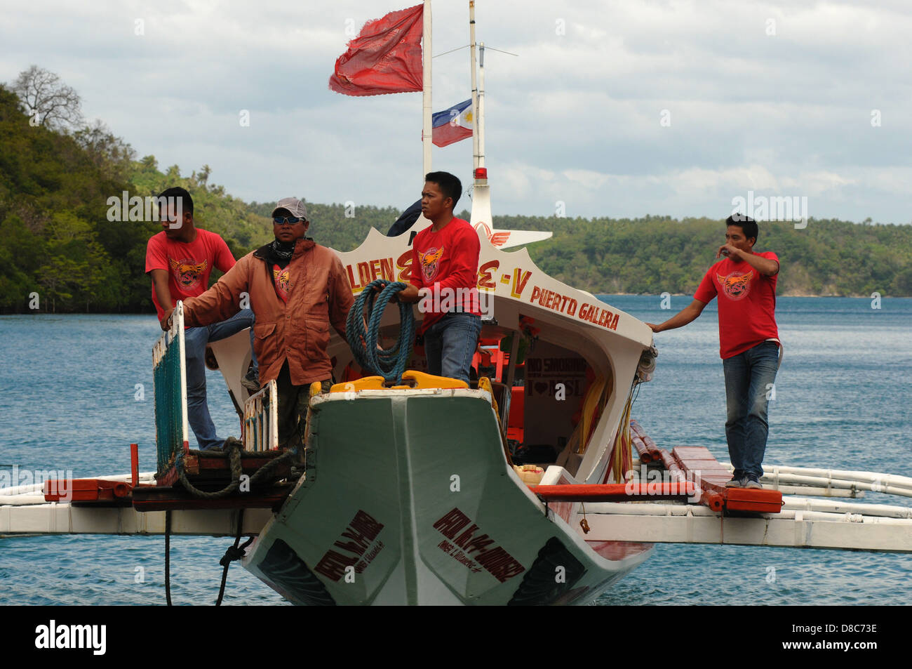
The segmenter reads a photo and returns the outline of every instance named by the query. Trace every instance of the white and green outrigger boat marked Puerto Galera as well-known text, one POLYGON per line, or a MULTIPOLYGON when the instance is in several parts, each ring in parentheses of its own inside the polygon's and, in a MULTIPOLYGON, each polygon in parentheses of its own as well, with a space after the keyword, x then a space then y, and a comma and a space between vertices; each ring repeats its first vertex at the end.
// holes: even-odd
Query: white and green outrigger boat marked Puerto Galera
MULTIPOLYGON (((910 477, 771 466, 762 489, 727 489, 731 466, 708 449, 662 448, 631 420, 655 365, 652 331, 547 276, 525 248, 506 250, 550 233, 493 229, 483 77, 473 100, 478 382, 430 376, 415 349, 389 384, 333 332, 339 382, 312 388, 303 453, 280 453, 275 383, 254 396, 242 387, 239 332, 211 348, 242 440, 192 450, 179 305, 153 349, 157 471, 140 474, 134 444, 129 475, 0 489, 0 535, 233 536, 226 570, 240 558, 311 605, 584 604, 657 543, 912 552, 912 508, 842 499, 912 497, 910 477), (242 537, 252 540, 239 547, 242 537)), ((353 292, 408 281, 412 236, 372 229, 338 253, 353 292)), ((398 338, 391 309, 378 335, 398 338)))

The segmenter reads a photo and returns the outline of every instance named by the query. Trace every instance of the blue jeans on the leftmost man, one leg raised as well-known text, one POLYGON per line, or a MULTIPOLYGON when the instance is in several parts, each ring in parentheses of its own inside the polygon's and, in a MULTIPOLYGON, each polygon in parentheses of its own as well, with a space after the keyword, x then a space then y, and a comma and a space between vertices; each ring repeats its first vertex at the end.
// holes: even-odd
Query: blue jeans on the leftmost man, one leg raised
MULTIPOLYGON (((209 415, 209 405, 206 403, 206 344, 210 341, 223 340, 250 328, 251 350, 254 340, 254 312, 244 309, 234 314, 230 319, 221 323, 212 323, 202 328, 187 328, 183 331, 184 345, 186 346, 185 360, 187 361, 187 422, 200 450, 218 448, 224 440, 215 434, 215 424, 209 415)), ((256 369, 256 356, 254 369, 256 369)))

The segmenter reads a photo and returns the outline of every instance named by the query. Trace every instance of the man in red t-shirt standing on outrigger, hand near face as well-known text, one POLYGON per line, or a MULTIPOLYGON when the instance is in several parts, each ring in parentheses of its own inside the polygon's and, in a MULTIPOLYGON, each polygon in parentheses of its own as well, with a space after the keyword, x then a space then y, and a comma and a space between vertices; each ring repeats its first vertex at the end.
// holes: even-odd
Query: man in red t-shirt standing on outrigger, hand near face
POLYGON ((779 258, 766 251, 754 253, 757 223, 742 214, 725 221, 722 260, 707 271, 693 301, 653 332, 687 325, 719 297, 719 342, 725 371, 728 417, 725 435, 734 473, 728 487, 759 488, 763 454, 769 432, 767 406, 782 359, 776 328, 776 277, 779 258))

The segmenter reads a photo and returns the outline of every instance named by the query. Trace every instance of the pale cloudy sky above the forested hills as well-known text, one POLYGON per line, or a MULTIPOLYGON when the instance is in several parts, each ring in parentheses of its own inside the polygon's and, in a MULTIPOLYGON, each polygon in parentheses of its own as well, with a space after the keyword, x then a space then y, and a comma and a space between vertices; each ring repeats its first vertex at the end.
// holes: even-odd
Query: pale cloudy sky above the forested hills
MULTIPOLYGON (((0 0, 0 82, 50 70, 138 156, 208 164, 248 202, 405 208, 421 94, 328 78, 366 21, 413 4, 0 0)), ((469 50, 444 53, 468 45, 468 15, 432 3, 435 111, 470 97, 469 50)), ((516 54, 485 57, 494 214, 723 218, 789 197, 814 218, 912 222, 912 3, 478 0, 476 22, 516 54)), ((472 141, 435 147, 433 169, 469 192, 472 141)))

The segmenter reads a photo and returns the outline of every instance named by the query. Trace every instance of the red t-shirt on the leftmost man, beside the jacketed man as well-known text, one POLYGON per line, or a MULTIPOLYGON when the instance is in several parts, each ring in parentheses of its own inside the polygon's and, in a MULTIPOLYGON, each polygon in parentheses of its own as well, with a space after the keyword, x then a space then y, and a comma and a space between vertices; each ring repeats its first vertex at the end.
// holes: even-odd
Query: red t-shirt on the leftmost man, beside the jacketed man
MULTIPOLYGON (((208 230, 196 228, 196 239, 190 244, 169 239, 162 230, 157 235, 152 235, 146 246, 146 274, 153 269, 168 272, 172 303, 202 295, 209 287, 212 267, 227 272, 234 267, 234 256, 228 250, 225 240, 208 230)), ((154 287, 152 302, 155 303, 161 320, 165 312, 159 304, 154 287)))

